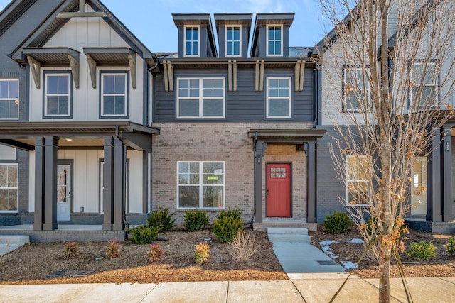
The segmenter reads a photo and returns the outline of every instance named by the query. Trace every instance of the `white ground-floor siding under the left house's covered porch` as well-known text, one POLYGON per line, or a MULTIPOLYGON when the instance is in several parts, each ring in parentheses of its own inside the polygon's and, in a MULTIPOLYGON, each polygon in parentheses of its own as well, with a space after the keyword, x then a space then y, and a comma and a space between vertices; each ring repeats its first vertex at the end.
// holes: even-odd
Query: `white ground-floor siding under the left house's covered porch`
MULTIPOLYGON (((73 160, 73 209, 79 212, 80 206, 86 213, 100 212, 100 159, 104 158, 103 150, 58 150, 58 159, 73 160)), ((129 213, 142 213, 142 152, 127 150, 129 162, 129 213), (139 172, 139 173, 137 173, 139 172)), ((35 209, 35 152, 30 152, 29 191, 31 192, 28 209, 35 209)))

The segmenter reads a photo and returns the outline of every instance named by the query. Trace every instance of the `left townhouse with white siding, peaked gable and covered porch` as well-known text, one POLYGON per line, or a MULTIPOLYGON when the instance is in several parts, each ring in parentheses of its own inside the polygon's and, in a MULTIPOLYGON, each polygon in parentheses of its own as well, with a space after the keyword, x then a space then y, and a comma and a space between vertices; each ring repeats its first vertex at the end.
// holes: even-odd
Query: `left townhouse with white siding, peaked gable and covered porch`
MULTIPOLYGON (((22 26, 6 50, 9 65, 25 76, 16 83, 21 119, 0 121, 1 143, 26 159, 18 164, 18 180, 25 180, 16 185, 20 202, 9 211, 36 231, 65 223, 122 231, 144 221, 151 205, 151 138, 159 133, 151 127, 149 103, 156 56, 100 1, 10 6, 22 2, 30 4, 14 22, 22 26), (24 26, 38 11, 47 13, 24 26)), ((11 92, 14 82, 5 83, 11 92)), ((5 215, 0 209, 0 218, 5 215)))

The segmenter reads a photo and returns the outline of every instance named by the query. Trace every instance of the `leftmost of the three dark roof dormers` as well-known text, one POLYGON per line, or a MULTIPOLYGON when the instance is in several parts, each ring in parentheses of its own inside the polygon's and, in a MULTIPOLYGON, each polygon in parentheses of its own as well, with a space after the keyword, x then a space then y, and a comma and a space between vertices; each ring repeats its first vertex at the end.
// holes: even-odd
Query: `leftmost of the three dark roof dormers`
POLYGON ((208 13, 173 13, 178 28, 178 57, 218 57, 208 13))

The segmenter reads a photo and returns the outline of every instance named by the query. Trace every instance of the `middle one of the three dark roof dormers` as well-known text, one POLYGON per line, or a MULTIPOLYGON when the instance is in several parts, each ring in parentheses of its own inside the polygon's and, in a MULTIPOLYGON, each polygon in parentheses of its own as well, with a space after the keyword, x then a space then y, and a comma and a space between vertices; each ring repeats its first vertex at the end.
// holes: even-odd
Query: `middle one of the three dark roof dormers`
POLYGON ((252 13, 215 13, 220 57, 248 57, 252 13))

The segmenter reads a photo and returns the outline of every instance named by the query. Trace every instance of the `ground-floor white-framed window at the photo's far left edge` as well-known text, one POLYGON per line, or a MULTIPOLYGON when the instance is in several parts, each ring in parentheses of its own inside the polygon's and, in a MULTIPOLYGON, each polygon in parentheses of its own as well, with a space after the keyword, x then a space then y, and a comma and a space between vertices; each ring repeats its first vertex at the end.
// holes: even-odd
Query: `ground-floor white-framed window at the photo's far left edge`
POLYGON ((0 164, 0 211, 17 211, 17 164, 0 164))

